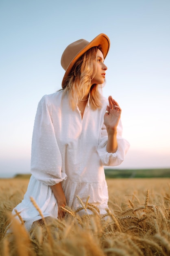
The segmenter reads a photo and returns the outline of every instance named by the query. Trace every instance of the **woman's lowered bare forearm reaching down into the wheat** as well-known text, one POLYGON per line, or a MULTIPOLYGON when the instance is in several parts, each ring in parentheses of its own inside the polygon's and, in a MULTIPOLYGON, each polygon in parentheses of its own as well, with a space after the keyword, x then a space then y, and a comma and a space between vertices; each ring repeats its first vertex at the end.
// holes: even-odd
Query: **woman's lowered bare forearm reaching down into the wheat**
POLYGON ((62 219, 65 215, 65 212, 61 209, 61 207, 65 207, 66 205, 66 198, 61 186, 61 182, 51 186, 52 192, 54 193, 55 198, 57 199, 58 204, 58 217, 62 219))

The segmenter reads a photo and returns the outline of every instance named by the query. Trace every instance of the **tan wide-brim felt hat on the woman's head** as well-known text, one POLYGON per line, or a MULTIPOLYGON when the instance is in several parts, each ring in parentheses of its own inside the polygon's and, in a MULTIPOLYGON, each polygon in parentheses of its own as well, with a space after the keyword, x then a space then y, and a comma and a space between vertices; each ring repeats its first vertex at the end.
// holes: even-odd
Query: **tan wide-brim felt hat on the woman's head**
POLYGON ((72 67, 74 66, 78 58, 80 58, 90 48, 94 46, 98 47, 99 45, 101 47, 101 51, 105 59, 110 47, 110 40, 108 36, 105 34, 99 34, 91 42, 88 42, 85 39, 77 40, 65 48, 61 56, 61 66, 65 70, 65 74, 63 76, 62 81, 63 89, 65 88, 65 80, 67 76, 70 74, 72 67))

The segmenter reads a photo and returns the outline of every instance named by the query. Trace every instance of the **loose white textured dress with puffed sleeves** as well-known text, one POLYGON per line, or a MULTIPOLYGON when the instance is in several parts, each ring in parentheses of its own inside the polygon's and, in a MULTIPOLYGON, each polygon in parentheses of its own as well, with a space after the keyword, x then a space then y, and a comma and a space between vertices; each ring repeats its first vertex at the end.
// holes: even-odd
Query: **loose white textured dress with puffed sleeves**
MULTIPOLYGON (((51 186, 62 182, 67 204, 73 210, 81 207, 77 198, 94 204, 105 214, 108 190, 103 166, 122 163, 129 142, 122 138, 118 124, 118 150, 108 153, 104 115, 108 100, 102 98, 102 108, 92 110, 89 100, 83 118, 78 108, 72 110, 67 94, 59 91, 42 97, 38 104, 33 129, 31 178, 24 199, 13 209, 20 212, 29 230, 41 219, 33 206, 33 197, 44 217, 57 218, 58 206, 51 186)), ((79 212, 84 214, 83 210, 79 212)), ((89 210, 90 213, 90 210, 89 210)), ((92 212, 91 212, 92 213, 92 212)), ((16 217, 17 218, 17 217, 16 217)))

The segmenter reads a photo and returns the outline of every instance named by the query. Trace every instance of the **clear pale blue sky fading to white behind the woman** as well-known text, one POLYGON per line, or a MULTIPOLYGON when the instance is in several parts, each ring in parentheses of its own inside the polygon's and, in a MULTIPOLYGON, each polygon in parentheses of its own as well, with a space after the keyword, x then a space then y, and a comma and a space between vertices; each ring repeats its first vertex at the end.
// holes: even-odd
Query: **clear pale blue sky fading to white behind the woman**
POLYGON ((100 33, 103 89, 131 148, 119 168, 170 167, 169 0, 0 0, 0 176, 29 173, 37 104, 61 88, 61 54, 100 33))

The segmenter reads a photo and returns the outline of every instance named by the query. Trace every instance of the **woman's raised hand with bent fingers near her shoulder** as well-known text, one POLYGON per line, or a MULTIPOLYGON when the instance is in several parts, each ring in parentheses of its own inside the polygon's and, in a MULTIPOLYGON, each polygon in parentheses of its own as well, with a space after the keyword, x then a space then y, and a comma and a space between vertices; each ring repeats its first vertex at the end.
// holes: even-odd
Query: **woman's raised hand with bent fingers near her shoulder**
POLYGON ((104 124, 107 128, 107 132, 112 133, 117 131, 117 126, 121 116, 121 108, 111 96, 109 96, 109 106, 106 108, 104 115, 104 124))

